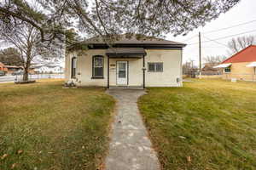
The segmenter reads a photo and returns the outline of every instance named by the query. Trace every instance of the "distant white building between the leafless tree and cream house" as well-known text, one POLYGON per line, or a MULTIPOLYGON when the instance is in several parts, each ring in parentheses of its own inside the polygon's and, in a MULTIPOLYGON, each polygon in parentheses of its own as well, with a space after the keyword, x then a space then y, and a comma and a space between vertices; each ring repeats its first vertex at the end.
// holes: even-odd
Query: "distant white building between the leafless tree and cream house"
POLYGON ((37 73, 63 73, 64 69, 61 65, 36 65, 35 72, 37 73))

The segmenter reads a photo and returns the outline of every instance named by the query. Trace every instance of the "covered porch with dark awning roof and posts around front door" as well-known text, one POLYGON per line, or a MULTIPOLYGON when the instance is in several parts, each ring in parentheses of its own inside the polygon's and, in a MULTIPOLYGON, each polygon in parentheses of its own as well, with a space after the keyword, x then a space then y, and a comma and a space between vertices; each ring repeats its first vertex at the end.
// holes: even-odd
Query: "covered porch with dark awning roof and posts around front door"
POLYGON ((108 48, 108 88, 145 88, 144 48, 108 48))

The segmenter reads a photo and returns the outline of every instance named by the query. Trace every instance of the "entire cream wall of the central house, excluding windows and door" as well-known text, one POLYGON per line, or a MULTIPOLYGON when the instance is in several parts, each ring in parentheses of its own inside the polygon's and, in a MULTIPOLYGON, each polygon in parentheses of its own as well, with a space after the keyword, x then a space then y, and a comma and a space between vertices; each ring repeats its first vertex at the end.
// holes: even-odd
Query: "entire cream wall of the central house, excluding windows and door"
MULTIPOLYGON (((146 87, 179 87, 182 82, 182 50, 147 49, 145 56, 146 87), (148 72, 148 62, 163 62, 163 72, 148 72)), ((73 80, 78 86, 108 86, 108 57, 105 49, 90 49, 80 53, 67 54, 65 59, 66 81, 73 80), (91 79, 92 56, 104 56, 104 78, 91 79), (77 76, 71 79, 71 59, 77 57, 77 76)), ((109 59, 109 85, 116 86, 116 62, 128 61, 128 86, 143 86, 143 58, 141 59, 109 59)))

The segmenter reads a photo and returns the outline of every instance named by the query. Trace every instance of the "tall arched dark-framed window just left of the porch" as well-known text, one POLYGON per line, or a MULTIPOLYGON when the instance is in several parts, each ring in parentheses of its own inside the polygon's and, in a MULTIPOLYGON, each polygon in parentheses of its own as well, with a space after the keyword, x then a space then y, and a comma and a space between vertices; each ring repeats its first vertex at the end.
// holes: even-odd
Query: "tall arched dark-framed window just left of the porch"
POLYGON ((103 78, 103 56, 96 55, 92 58, 92 78, 103 78))

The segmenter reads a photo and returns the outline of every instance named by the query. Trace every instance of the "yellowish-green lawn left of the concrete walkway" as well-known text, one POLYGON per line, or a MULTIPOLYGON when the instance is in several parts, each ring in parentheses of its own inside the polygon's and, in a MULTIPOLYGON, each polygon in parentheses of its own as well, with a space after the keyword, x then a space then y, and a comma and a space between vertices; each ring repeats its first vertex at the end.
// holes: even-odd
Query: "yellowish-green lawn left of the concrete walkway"
POLYGON ((114 100, 62 83, 0 84, 1 170, 102 168, 114 100))

